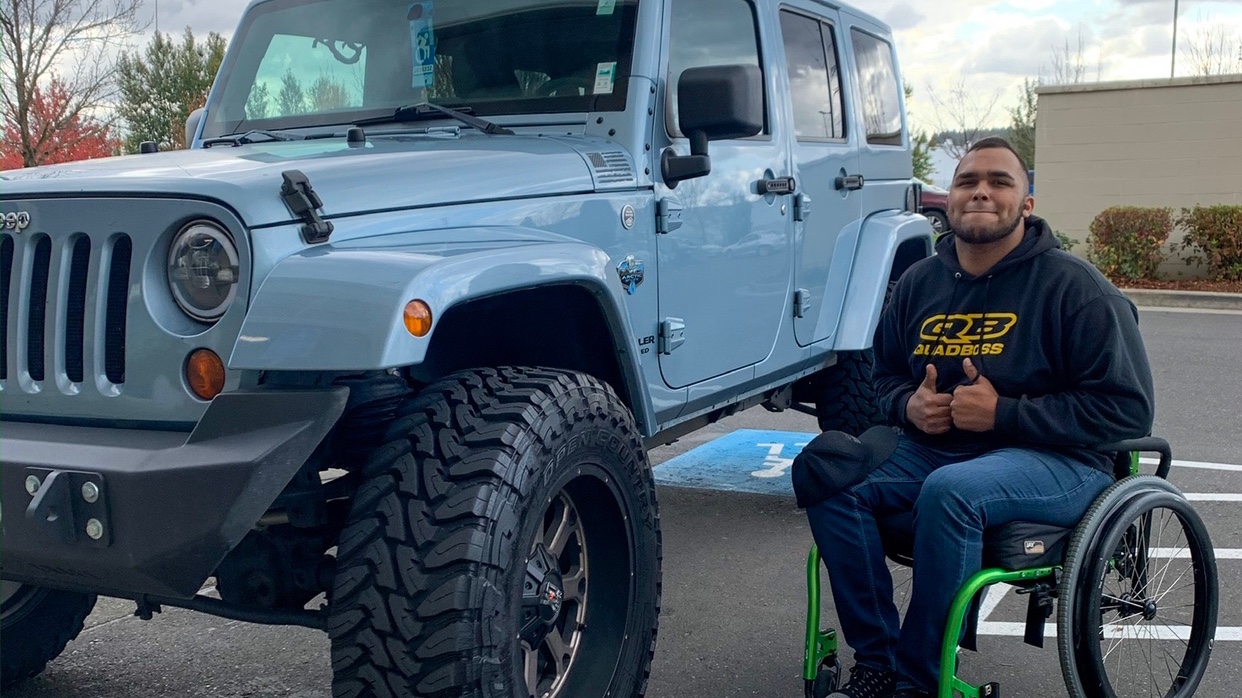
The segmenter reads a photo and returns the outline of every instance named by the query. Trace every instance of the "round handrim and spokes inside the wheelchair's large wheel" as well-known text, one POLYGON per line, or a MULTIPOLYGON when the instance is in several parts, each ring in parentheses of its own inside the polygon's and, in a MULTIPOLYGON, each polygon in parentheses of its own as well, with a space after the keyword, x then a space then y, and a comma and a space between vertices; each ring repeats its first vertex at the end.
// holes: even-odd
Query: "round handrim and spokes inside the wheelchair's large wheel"
POLYGON ((1083 630, 1098 633, 1088 651, 1108 697, 1181 696, 1206 662, 1206 555, 1179 509, 1143 512, 1107 542, 1115 553, 1093 565, 1099 594, 1083 630))

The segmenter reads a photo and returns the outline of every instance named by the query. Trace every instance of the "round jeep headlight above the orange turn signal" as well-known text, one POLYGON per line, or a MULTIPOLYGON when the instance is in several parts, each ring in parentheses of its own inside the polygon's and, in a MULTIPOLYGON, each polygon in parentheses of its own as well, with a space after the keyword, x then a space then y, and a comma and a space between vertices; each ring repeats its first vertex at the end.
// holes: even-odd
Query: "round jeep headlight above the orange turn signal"
POLYGON ((176 304, 191 318, 212 322, 237 296, 237 247, 209 221, 194 221, 173 238, 168 283, 176 304))

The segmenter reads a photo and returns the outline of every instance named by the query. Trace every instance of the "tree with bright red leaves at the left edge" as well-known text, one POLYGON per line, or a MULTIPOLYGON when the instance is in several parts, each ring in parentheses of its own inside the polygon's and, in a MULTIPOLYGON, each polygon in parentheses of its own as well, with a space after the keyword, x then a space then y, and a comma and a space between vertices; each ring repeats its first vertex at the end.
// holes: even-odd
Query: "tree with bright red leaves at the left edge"
POLYGON ((0 170, 14 170, 29 164, 50 165, 107 158, 120 149, 120 140, 108 124, 83 117, 72 109, 72 94, 58 78, 52 78, 47 89, 36 87, 30 101, 30 145, 22 152, 17 124, 9 120, 0 143, 0 170))

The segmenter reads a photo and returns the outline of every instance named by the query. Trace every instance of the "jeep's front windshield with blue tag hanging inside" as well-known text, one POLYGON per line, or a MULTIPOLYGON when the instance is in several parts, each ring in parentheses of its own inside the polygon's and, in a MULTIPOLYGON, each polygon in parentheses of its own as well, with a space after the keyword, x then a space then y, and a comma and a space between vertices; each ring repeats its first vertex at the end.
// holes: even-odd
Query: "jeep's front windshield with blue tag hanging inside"
POLYGON ((478 116, 623 111, 637 2, 258 2, 202 138, 350 124, 424 102, 478 116))

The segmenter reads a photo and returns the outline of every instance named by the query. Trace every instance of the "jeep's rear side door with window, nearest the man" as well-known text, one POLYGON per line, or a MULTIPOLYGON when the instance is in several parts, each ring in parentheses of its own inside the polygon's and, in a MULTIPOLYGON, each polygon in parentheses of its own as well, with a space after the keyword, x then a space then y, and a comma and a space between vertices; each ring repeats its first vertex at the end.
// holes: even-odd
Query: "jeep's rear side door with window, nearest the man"
POLYGON ((780 10, 797 183, 794 335, 804 347, 836 332, 862 214, 858 138, 848 125, 840 26, 836 10, 818 2, 792 0, 780 10))

